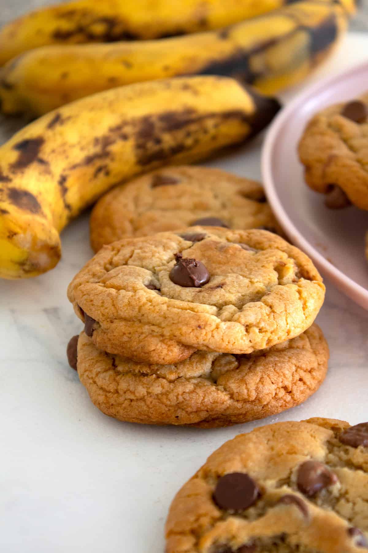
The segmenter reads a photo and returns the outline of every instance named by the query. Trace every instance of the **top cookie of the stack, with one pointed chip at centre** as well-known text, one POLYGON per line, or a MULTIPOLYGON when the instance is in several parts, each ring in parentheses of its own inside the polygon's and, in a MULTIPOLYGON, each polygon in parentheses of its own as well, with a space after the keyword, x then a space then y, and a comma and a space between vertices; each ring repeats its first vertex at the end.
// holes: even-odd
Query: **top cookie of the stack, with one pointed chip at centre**
POLYGON ((166 364, 289 340, 311 326, 324 285, 276 234, 196 226, 104 246, 68 298, 96 347, 166 364))

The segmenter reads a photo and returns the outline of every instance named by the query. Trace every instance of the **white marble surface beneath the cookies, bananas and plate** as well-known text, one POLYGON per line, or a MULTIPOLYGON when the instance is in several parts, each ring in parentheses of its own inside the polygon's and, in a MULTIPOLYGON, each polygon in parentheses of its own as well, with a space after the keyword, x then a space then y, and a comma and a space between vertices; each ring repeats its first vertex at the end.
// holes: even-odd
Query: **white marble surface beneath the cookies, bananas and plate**
MULTIPOLYGON (((366 51, 352 35, 321 72, 342 70, 366 51)), ((216 164, 258 178, 261 142, 216 164)), ((170 500, 223 441, 276 420, 368 419, 368 312, 328 282, 318 323, 330 370, 302 406, 217 430, 109 419, 90 403, 65 356, 81 329, 66 287, 92 253, 87 215, 63 232, 62 243, 55 270, 0 282, 1 552, 162 553, 170 500)))

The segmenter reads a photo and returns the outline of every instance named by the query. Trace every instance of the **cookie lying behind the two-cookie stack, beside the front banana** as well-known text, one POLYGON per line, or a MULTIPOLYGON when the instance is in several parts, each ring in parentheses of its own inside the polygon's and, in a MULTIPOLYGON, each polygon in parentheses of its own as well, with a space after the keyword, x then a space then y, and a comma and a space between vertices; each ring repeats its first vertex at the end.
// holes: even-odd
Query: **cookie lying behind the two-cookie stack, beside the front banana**
POLYGON ((193 225, 279 230, 259 182, 184 165, 153 171, 105 194, 90 216, 90 242, 97 252, 121 238, 193 225))

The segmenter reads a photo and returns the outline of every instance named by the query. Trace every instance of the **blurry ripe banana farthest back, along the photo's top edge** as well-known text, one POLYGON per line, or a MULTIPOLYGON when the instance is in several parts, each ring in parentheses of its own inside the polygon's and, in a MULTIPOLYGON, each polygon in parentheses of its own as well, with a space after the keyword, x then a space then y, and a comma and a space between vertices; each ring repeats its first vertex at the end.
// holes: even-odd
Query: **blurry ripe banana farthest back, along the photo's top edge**
POLYGON ((77 0, 29 13, 0 32, 0 65, 46 44, 154 39, 218 29, 290 0, 77 0))

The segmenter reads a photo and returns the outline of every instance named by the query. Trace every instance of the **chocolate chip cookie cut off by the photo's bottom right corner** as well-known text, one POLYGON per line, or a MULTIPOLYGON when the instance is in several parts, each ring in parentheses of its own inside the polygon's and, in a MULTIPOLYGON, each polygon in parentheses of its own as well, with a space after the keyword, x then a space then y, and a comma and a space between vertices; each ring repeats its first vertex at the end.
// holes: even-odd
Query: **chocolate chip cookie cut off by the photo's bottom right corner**
POLYGON ((178 492, 167 553, 368 549, 368 423, 279 422, 226 442, 178 492))

